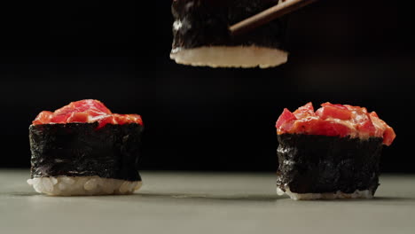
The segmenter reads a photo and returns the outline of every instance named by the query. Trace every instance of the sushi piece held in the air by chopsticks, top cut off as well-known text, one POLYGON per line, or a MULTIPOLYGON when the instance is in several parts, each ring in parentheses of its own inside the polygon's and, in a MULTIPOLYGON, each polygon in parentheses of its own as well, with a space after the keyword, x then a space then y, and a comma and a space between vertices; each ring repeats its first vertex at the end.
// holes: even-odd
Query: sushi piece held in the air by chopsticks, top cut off
POLYGON ((232 36, 229 31, 231 25, 276 4, 278 0, 174 0, 170 58, 178 64, 211 67, 286 63, 286 18, 244 35, 232 36))

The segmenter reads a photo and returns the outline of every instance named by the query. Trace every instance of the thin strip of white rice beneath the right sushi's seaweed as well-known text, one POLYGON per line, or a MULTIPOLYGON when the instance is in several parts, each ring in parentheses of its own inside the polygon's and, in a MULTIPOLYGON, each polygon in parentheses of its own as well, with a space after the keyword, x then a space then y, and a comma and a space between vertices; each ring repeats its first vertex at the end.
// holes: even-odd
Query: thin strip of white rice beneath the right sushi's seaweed
POLYGON ((290 196, 291 199, 372 199, 372 191, 356 190, 353 193, 344 193, 342 191, 336 191, 335 193, 295 193, 290 191, 289 188, 286 188, 286 191, 282 191, 280 188, 277 188, 277 194, 282 196, 284 194, 290 196))

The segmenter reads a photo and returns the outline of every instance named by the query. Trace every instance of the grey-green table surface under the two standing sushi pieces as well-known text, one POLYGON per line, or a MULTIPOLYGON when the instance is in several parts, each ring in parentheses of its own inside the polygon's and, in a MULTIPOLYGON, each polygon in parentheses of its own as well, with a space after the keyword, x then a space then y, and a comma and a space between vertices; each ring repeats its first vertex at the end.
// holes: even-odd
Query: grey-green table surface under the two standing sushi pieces
POLYGON ((415 233, 415 175, 383 175, 375 199, 295 201, 273 174, 142 172, 128 196, 50 197, 0 170, 0 233, 415 233))

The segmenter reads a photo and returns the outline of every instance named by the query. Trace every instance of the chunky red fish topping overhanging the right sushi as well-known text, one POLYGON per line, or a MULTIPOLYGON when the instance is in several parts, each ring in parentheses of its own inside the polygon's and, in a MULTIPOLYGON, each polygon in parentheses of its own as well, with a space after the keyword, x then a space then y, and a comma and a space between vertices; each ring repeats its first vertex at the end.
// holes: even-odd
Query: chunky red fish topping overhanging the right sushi
POLYGON ((279 116, 277 133, 324 136, 350 136, 367 139, 382 137, 383 144, 390 145, 395 131, 377 113, 368 113, 366 108, 353 105, 324 103, 317 111, 311 103, 301 106, 294 113, 288 109, 279 116))

